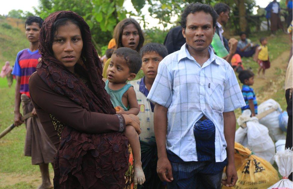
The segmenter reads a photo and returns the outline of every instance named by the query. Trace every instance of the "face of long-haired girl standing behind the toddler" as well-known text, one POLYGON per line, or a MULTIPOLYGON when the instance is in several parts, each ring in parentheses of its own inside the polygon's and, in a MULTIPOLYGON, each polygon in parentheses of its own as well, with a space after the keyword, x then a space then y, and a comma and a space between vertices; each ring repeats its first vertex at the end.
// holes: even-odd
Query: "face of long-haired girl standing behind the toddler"
POLYGON ((138 30, 134 24, 128 24, 122 31, 121 43, 123 47, 136 50, 139 43, 138 30))

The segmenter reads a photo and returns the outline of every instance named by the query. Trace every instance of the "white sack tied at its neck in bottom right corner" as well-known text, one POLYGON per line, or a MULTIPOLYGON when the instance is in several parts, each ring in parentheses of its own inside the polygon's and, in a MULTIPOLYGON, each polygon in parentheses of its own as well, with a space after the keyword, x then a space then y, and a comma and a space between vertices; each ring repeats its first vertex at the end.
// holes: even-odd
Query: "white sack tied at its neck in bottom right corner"
POLYGON ((288 179, 288 176, 293 171, 293 153, 292 149, 286 149, 284 151, 277 152, 275 155, 275 161, 279 168, 279 173, 282 175, 283 179, 273 184, 269 189, 273 188, 292 188, 293 182, 288 179))

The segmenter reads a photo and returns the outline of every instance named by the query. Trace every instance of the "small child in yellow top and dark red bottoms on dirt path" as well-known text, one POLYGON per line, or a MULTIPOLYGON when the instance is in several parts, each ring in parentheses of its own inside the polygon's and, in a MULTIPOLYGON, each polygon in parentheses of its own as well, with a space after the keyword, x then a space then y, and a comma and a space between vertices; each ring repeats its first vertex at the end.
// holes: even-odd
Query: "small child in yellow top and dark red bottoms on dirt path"
POLYGON ((267 39, 260 38, 261 45, 256 49, 255 56, 253 58, 259 64, 258 76, 262 70, 262 77, 264 78, 265 70, 270 68, 269 53, 267 50, 267 39))

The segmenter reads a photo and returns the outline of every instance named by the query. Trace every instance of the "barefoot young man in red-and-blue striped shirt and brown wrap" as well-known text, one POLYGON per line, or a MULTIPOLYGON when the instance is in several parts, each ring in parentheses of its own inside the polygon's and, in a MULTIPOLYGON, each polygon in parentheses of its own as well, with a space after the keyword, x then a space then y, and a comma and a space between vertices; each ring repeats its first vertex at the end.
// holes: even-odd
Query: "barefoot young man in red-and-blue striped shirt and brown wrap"
POLYGON ((25 23, 26 38, 29 48, 17 53, 12 75, 16 76, 14 125, 23 123, 20 113, 20 101, 23 102, 23 114, 32 112, 33 117, 26 121, 26 141, 24 155, 32 157, 32 164, 39 165, 42 175, 42 184, 38 188, 53 188, 49 176, 49 163, 53 164, 56 149, 37 116, 29 95, 29 77, 36 71, 36 66, 41 58, 38 51, 38 37, 43 20, 40 17, 28 17, 25 23))

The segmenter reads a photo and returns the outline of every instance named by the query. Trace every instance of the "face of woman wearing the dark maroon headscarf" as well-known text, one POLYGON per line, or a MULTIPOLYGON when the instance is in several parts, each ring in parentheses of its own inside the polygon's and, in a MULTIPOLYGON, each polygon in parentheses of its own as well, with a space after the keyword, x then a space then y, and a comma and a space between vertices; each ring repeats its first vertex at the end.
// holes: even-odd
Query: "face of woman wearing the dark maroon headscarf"
POLYGON ((54 34, 52 49, 57 60, 71 72, 80 59, 83 41, 80 29, 72 22, 59 26, 54 34))

